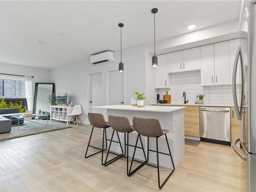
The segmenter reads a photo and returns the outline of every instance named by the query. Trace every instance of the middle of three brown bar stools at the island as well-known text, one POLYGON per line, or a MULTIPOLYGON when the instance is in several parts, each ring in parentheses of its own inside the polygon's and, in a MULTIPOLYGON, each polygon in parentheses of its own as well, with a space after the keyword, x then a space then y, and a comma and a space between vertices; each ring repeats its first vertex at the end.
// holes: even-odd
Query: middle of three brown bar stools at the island
POLYGON ((105 166, 108 166, 109 164, 115 162, 116 160, 124 157, 125 154, 126 154, 126 146, 125 145, 127 145, 126 174, 129 175, 128 174, 128 169, 129 169, 129 133, 133 132, 134 129, 130 125, 129 119, 125 116, 109 115, 109 124, 113 129, 113 133, 112 133, 111 140, 110 140, 109 150, 108 150, 108 153, 106 154, 105 166), (115 132, 117 134, 117 138, 118 138, 119 142, 113 141, 113 136, 114 136, 115 132), (124 152, 123 152, 122 144, 121 144, 120 139, 119 139, 118 132, 119 133, 124 133, 124 152), (126 144, 126 138, 125 138, 126 134, 127 134, 127 144, 126 144), (107 161, 109 153, 110 153, 110 147, 111 147, 112 142, 117 142, 117 143, 120 144, 122 154, 117 155, 117 157, 114 157, 113 159, 107 161))

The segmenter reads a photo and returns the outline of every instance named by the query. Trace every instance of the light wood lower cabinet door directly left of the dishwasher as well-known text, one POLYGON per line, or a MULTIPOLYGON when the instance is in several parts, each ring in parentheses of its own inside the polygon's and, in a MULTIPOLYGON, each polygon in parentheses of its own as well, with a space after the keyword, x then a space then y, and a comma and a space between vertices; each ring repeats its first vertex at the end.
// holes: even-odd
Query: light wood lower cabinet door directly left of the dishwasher
POLYGON ((184 119, 185 135, 200 137, 199 106, 186 106, 184 119))

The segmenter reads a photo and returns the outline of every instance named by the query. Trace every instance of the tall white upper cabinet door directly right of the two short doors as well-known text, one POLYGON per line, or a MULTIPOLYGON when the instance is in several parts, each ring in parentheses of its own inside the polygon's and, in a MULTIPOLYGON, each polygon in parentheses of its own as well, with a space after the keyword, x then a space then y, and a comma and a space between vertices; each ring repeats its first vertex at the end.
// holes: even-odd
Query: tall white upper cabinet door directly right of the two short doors
POLYGON ((215 84, 214 44, 201 47, 201 86, 215 84))

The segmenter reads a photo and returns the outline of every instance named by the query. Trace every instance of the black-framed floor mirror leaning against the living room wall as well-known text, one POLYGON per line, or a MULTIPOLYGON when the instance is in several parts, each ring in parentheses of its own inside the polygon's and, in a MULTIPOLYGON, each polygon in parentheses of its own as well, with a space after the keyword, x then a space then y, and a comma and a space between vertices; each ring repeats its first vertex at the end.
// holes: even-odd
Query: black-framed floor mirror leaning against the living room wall
POLYGON ((45 114, 50 117, 50 103, 48 96, 54 93, 54 83, 35 83, 34 114, 45 114))

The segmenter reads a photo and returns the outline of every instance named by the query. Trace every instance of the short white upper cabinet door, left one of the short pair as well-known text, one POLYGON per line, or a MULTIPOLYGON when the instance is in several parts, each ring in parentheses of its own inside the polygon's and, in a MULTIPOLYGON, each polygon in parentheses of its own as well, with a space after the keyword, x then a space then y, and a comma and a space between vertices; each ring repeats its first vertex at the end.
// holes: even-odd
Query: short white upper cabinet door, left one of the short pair
POLYGON ((181 72, 183 70, 182 51, 167 54, 167 73, 181 72))

